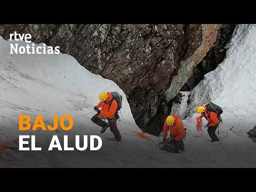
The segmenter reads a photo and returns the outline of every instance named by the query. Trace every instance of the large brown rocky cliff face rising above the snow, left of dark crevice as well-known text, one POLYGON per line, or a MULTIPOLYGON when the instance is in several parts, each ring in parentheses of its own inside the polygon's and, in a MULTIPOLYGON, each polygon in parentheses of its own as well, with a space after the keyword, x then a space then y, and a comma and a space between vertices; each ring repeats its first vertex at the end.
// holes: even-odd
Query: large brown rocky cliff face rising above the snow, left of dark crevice
MULTIPOLYGON (((116 82, 126 93, 142 129, 161 129, 172 99, 214 43, 221 25, 0 25, 10 33, 30 33, 32 41, 60 46, 94 74, 116 82), (168 91, 167 91, 168 90, 168 91), (163 114, 159 117, 157 114, 163 114), (164 113, 162 113, 164 111, 164 113)), ((107 91, 107 90, 106 90, 107 91)), ((151 131, 159 134, 159 131, 151 131)))

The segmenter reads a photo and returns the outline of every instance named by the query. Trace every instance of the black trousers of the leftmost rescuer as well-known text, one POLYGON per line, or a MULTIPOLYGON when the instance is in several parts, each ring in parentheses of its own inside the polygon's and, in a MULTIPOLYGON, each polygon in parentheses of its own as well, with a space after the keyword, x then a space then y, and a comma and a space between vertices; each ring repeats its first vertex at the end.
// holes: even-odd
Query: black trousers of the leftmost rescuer
MULTIPOLYGON (((120 141, 122 136, 119 132, 119 130, 117 129, 117 125, 116 125, 116 119, 113 118, 113 119, 110 119, 110 118, 107 118, 108 119, 108 123, 109 123, 109 129, 112 133, 114 133, 115 135, 115 139, 117 141, 120 141)), ((105 121, 103 121, 101 118, 98 118, 98 114, 94 115, 92 118, 91 118, 92 122, 99 125, 100 127, 105 127, 107 126, 107 123, 105 121)))

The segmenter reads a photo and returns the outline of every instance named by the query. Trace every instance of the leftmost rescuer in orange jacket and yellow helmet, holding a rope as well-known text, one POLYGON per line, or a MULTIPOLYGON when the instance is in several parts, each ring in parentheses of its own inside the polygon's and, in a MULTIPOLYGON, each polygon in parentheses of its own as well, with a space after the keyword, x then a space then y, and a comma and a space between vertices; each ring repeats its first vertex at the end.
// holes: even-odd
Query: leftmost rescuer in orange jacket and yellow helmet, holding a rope
POLYGON ((100 102, 94 107, 97 114, 94 115, 91 120, 93 123, 102 127, 100 131, 101 133, 104 133, 109 127, 110 131, 114 133, 115 139, 120 141, 122 136, 116 125, 117 101, 113 98, 110 92, 101 92, 99 94, 99 99, 100 102), (101 108, 101 110, 99 108, 101 108), (108 123, 102 120, 105 118, 108 120, 108 123))

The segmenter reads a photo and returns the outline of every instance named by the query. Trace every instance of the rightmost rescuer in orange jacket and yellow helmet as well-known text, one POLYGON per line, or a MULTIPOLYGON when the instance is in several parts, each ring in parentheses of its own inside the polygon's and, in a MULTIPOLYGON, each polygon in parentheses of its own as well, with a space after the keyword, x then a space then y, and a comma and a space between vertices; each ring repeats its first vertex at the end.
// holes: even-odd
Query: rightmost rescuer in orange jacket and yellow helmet
POLYGON ((205 117, 206 120, 209 122, 206 126, 208 127, 207 131, 209 136, 212 139, 212 142, 219 141, 219 138, 215 134, 215 131, 218 128, 219 125, 219 118, 218 114, 214 113, 213 111, 209 111, 206 109, 205 106, 199 106, 196 109, 197 113, 202 114, 200 117, 205 117))

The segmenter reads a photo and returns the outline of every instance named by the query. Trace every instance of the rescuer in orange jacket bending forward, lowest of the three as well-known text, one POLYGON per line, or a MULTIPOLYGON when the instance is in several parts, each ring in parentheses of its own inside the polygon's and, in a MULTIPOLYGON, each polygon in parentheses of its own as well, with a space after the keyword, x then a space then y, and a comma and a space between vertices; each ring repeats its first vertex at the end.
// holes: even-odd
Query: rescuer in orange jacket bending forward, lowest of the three
POLYGON ((179 149, 185 150, 182 139, 186 136, 183 123, 178 115, 170 115, 166 118, 163 127, 163 142, 174 146, 173 153, 180 153, 179 149), (167 131, 170 130, 170 138, 166 139, 167 131))

